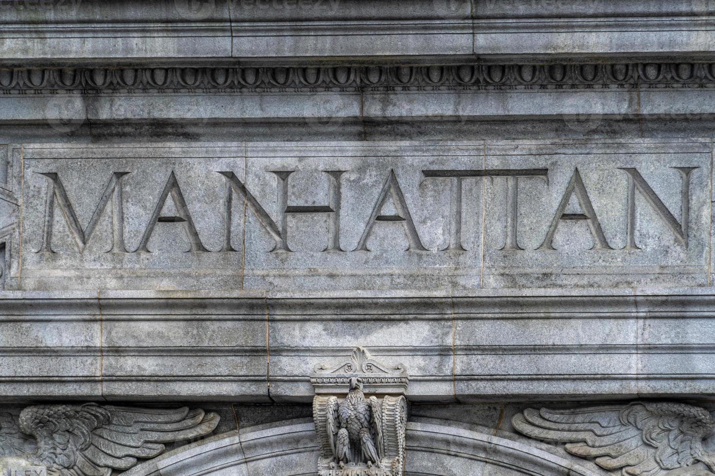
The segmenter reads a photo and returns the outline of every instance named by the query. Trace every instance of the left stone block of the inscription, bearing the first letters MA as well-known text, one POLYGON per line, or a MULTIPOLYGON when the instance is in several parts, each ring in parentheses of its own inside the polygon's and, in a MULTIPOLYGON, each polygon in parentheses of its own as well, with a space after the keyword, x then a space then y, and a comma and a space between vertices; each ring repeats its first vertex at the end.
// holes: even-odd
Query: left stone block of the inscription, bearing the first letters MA
MULTIPOLYGON (((240 289, 242 253, 207 250, 218 251, 225 245, 225 207, 220 204, 226 186, 217 171, 243 176, 242 157, 243 148, 235 144, 25 148, 25 285, 240 289), (45 200, 48 193, 57 195, 52 191, 59 183, 64 192, 56 200, 50 198, 55 208, 48 215, 53 216, 51 223, 46 224, 45 200), (93 222, 96 228, 90 228, 108 186, 109 199, 93 222), (72 214, 67 216, 69 222, 64 215, 70 208, 82 229, 70 228, 75 223, 72 214), (43 245, 47 230, 52 235, 49 248, 43 245)), ((239 206, 233 208, 232 220, 240 224, 242 214, 239 206)), ((231 245, 242 249, 240 234, 231 238, 231 245)))

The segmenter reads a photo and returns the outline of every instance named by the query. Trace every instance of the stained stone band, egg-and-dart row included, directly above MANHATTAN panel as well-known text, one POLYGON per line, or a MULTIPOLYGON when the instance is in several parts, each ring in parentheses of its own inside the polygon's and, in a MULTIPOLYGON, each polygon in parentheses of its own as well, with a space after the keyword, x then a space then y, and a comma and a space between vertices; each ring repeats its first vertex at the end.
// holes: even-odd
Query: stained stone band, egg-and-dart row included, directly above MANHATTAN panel
POLYGON ((711 136, 700 57, 435 61, 2 68, 0 128, 16 143, 711 136))

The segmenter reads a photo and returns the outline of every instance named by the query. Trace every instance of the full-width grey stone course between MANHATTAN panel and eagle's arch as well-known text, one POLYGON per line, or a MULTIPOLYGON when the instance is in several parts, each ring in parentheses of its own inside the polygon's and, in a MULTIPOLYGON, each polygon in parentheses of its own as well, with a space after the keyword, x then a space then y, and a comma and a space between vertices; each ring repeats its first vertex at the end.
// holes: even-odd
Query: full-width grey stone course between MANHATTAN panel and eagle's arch
POLYGON ((307 402, 312 367, 340 363, 357 343, 407 366, 414 402, 712 388, 712 288, 222 294, 4 291, 0 395, 307 402))

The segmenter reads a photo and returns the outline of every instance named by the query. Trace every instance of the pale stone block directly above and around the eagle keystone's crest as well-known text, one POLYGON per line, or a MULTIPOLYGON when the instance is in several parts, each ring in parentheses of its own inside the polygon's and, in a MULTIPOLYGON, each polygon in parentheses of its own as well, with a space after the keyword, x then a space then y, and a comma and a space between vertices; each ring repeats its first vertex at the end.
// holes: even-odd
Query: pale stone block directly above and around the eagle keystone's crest
POLYGON ((386 365, 408 368, 410 400, 450 400, 452 323, 449 302, 437 298, 375 301, 269 300, 270 394, 278 401, 310 401, 307 379, 316 365, 337 365, 358 345, 386 365), (306 314, 308 313, 308 314, 306 314), (407 349, 410 349, 407 351, 407 349))

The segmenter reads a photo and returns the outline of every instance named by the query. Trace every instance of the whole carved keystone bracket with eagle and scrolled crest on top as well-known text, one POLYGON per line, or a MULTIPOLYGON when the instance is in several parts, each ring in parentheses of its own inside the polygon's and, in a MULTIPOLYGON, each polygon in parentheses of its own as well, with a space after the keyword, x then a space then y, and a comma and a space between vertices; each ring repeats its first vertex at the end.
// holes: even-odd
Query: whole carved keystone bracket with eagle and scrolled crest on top
POLYGON ((403 475, 405 366, 379 363, 367 350, 357 348, 350 360, 340 365, 318 365, 310 380, 316 393, 340 395, 316 395, 313 399, 320 476, 403 475), (365 392, 393 395, 365 397, 365 392))

